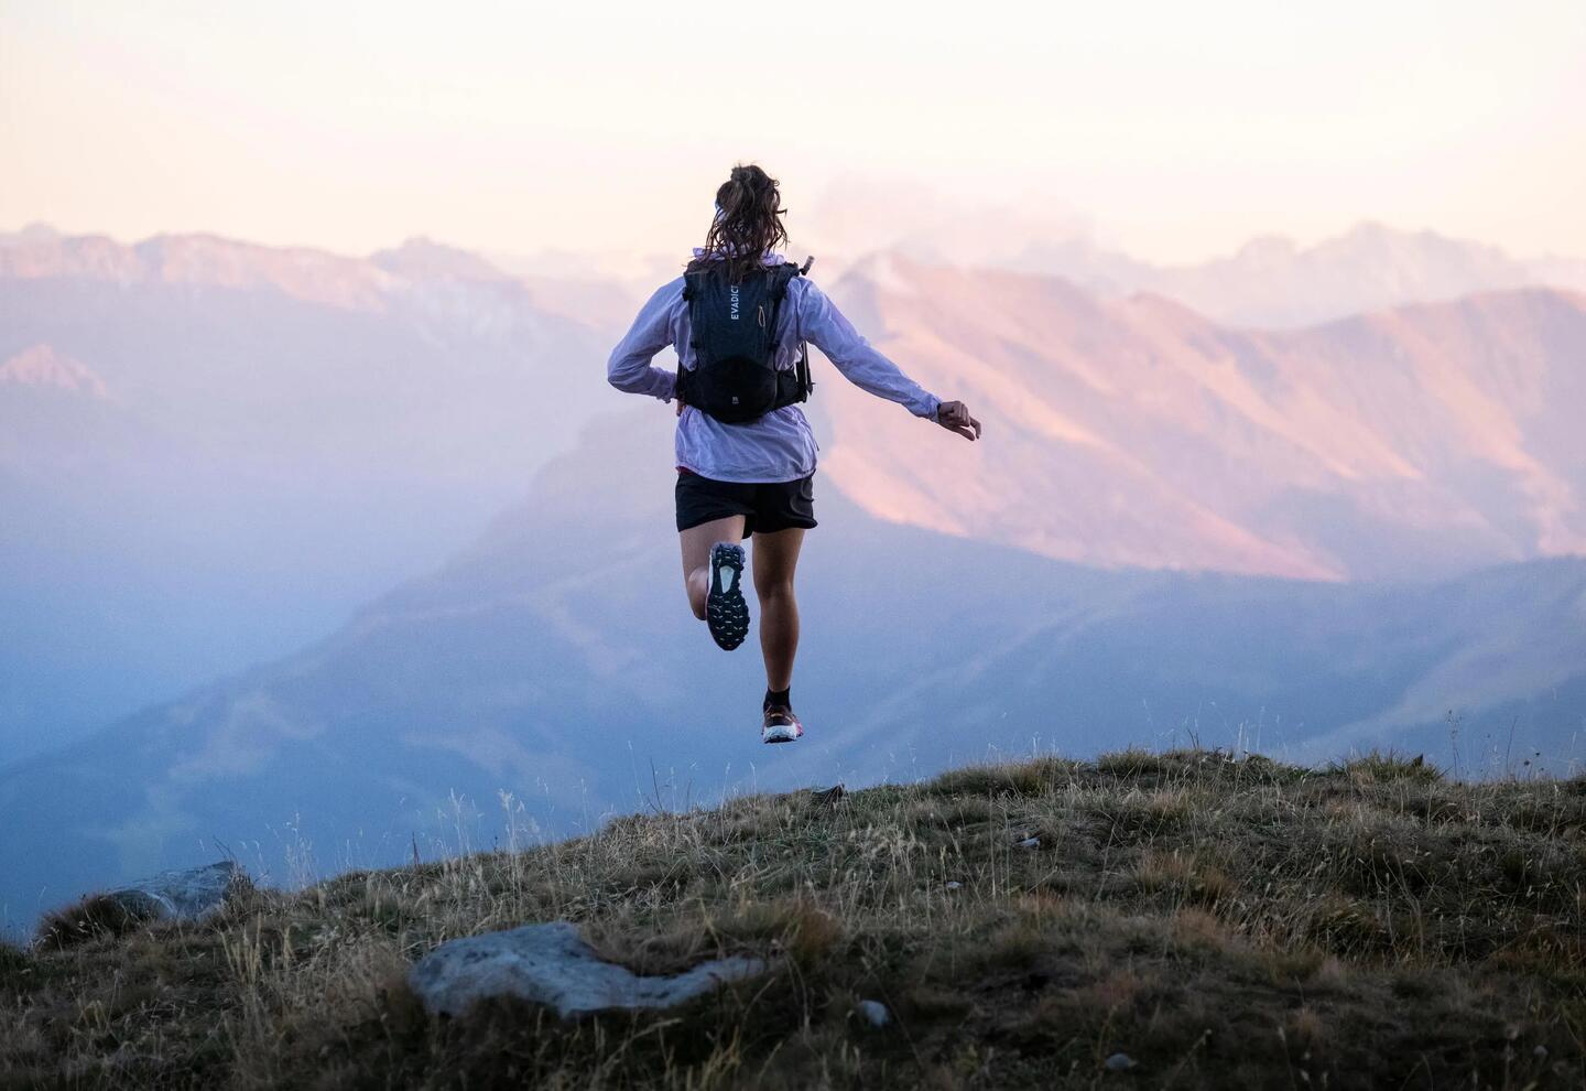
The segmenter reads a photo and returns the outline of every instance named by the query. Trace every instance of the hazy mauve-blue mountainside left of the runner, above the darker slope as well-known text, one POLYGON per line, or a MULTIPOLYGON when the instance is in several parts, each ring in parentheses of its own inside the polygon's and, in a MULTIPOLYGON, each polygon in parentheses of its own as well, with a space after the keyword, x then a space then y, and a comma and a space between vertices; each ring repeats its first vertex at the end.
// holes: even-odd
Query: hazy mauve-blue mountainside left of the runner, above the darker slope
POLYGON ((0 241, 0 753, 439 563, 606 403, 609 344, 433 244, 0 241))

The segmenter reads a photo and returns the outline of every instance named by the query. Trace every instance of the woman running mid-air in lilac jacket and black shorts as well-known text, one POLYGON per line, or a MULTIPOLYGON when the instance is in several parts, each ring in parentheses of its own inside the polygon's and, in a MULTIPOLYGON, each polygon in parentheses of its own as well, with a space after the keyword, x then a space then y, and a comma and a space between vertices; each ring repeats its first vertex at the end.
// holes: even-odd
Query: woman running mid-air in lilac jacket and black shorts
POLYGON ((677 398, 677 533, 684 588, 695 617, 731 652, 749 636, 744 547, 755 539, 760 652, 766 699, 760 737, 804 734, 793 715, 798 604, 793 571, 804 531, 815 526, 815 436, 796 403, 809 396, 804 343, 855 385, 896 401, 964 439, 980 422, 961 401, 942 401, 871 347, 831 300, 776 252, 787 241, 777 181, 734 167, 715 192, 715 220, 684 276, 665 284, 612 350, 611 385, 661 401, 677 398), (672 346, 677 373, 650 365, 672 346))

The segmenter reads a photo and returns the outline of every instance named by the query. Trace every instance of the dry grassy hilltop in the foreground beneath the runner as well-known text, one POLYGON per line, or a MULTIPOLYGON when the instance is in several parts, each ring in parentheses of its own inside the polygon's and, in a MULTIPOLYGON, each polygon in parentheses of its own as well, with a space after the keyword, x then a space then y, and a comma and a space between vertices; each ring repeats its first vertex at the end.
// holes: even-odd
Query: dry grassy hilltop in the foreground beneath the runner
POLYGON ((0 947, 0 1086, 1578 1088, 1583 828, 1586 777, 1381 756, 753 796, 0 947), (579 1023, 406 988, 446 939, 554 918, 641 972, 774 969, 579 1023))

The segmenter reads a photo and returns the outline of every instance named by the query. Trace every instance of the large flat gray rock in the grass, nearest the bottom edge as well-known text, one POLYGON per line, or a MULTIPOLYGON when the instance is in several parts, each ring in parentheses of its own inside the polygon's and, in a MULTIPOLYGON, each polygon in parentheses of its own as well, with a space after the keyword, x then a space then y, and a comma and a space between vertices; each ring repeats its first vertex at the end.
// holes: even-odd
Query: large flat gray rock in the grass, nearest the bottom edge
POLYGON ((601 961, 569 921, 525 924, 441 944, 408 980, 431 1015, 462 1015, 476 1001, 515 996, 563 1018, 607 1009, 671 1007, 723 982, 764 974, 757 958, 723 958, 671 977, 639 977, 601 961))

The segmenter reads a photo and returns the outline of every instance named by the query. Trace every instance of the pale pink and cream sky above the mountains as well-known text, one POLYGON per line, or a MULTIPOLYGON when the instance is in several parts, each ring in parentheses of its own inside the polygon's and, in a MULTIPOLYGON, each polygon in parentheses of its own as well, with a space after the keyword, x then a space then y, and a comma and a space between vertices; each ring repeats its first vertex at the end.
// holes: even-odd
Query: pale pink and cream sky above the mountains
POLYGON ((1155 260, 1361 219, 1586 254, 1583 103, 1580 0, 0 0, 0 230, 676 249, 757 159, 814 233, 895 178, 1155 260))

